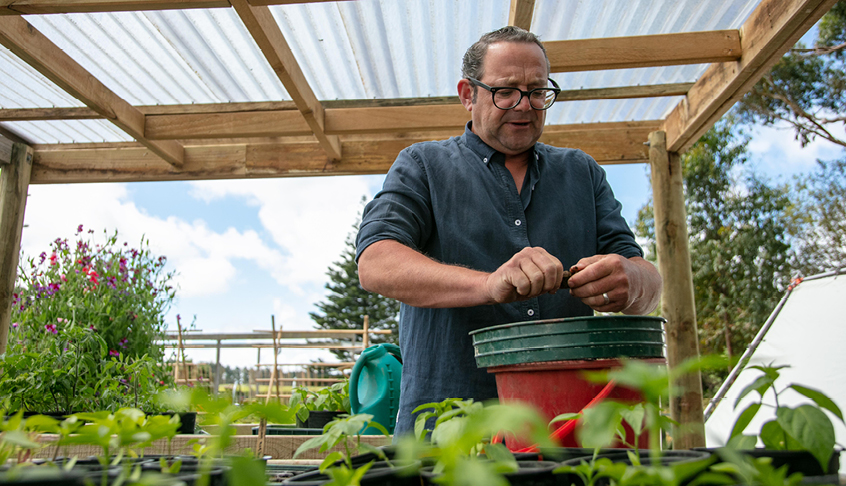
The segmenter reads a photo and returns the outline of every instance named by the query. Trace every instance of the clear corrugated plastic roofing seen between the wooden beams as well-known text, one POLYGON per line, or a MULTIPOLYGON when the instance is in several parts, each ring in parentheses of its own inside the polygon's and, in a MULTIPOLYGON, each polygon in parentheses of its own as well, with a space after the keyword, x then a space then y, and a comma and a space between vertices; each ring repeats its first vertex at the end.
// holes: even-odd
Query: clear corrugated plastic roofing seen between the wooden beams
MULTIPOLYGON (((759 0, 537 0, 532 30, 567 40, 735 29, 759 0)), ((508 0, 357 0, 270 7, 318 99, 453 96, 464 51, 508 21, 508 0)), ((28 15, 134 105, 290 100, 231 8, 28 15)), ((557 73, 563 89, 695 81, 705 65, 557 73)), ((0 107, 81 106, 0 47, 0 107)), ((547 123, 664 118, 678 97, 558 103, 547 123)), ((32 143, 130 138, 101 120, 5 122, 32 143)))

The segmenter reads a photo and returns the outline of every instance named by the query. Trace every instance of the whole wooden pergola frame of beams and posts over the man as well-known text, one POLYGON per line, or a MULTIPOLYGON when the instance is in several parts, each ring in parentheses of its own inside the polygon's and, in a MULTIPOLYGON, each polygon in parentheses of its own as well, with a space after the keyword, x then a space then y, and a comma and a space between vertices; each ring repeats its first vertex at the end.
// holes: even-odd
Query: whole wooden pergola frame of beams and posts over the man
MULTIPOLYGON (((317 2, 317 0, 314 0, 317 2)), ((108 120, 131 143, 35 144, 0 126, 0 353, 5 352, 29 184, 302 177, 385 173, 397 153, 462 132, 457 97, 319 100, 269 5, 297 0, 5 0, 0 44, 85 107, 0 109, 0 122, 108 120), (291 101, 133 106, 26 14, 232 8, 291 101)), ((679 96, 660 120, 547 125, 542 142, 579 148, 600 164, 652 170, 669 365, 698 355, 679 154, 687 150, 807 32, 835 0, 762 0, 738 29, 545 42, 553 73, 709 63, 693 83, 565 90, 571 100, 679 96)), ((511 0, 509 22, 531 30, 534 0, 511 0)), ((566 87, 565 87, 566 88, 566 87)), ((699 376, 671 398, 684 434, 704 445, 699 376)))

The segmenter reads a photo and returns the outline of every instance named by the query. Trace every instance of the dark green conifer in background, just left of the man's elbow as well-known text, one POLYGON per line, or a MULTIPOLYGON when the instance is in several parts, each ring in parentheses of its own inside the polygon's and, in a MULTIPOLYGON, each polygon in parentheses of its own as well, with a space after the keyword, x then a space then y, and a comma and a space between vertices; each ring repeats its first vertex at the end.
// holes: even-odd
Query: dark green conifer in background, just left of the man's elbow
MULTIPOLYGON (((310 312, 312 320, 319 329, 361 329, 364 316, 369 316, 370 329, 387 329, 391 334, 374 334, 372 344, 398 342, 399 302, 368 292, 361 288, 358 281, 358 265, 355 263, 355 235, 358 224, 347 235, 346 246, 340 261, 334 262, 326 274, 329 282, 325 285, 329 294, 324 302, 315 304, 319 312, 310 312)), ((332 339, 332 343, 344 341, 332 339)), ((353 353, 345 349, 335 349, 332 353, 341 361, 352 361, 353 353)))

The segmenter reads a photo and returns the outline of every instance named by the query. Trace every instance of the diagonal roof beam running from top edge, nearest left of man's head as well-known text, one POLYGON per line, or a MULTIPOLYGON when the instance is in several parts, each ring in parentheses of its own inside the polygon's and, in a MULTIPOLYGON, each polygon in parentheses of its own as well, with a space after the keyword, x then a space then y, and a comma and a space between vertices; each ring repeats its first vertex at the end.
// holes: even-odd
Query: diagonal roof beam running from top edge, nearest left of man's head
POLYGON ((231 0, 247 30, 258 44, 270 67, 296 103, 318 143, 330 160, 341 159, 341 141, 328 135, 323 120, 323 105, 314 96, 294 53, 268 7, 253 7, 247 0, 231 0))

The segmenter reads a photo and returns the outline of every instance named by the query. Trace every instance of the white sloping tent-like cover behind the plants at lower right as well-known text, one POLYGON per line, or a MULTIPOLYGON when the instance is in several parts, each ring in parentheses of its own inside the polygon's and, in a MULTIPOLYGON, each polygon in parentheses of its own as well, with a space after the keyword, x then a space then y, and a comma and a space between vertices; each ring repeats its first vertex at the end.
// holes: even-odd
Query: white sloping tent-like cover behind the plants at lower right
MULTIPOLYGON (((737 416, 759 398, 750 393, 734 408, 740 392, 762 374, 750 368, 754 365, 789 365, 776 381, 779 390, 789 384, 815 388, 846 413, 846 272, 807 277, 787 291, 706 409, 709 447, 725 445, 737 416)), ((764 403, 774 403, 771 391, 764 403)), ((779 395, 779 403, 795 406, 810 400, 791 389, 779 395)), ((759 431, 774 417, 771 407, 761 407, 746 433, 759 431)), ((829 417, 837 443, 846 445, 846 426, 833 415, 829 417)), ((840 472, 846 473, 846 460, 841 460, 840 472)))

